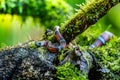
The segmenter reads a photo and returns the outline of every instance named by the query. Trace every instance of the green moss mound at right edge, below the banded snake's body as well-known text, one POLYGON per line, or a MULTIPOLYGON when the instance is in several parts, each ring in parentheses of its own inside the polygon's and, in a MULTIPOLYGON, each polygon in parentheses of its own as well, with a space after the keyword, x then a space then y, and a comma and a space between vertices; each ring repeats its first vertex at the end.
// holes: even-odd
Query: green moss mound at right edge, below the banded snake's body
POLYGON ((92 50, 99 64, 110 70, 110 74, 105 79, 120 79, 120 38, 114 37, 105 46, 92 50))

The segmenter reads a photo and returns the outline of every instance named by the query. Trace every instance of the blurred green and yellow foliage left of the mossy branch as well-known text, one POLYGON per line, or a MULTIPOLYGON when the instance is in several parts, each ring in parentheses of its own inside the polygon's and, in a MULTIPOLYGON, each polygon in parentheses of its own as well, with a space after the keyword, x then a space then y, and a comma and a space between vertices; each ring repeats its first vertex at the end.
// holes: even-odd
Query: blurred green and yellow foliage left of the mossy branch
POLYGON ((44 28, 60 25, 72 8, 60 0, 0 0, 0 13, 0 47, 3 47, 40 39, 44 28))

